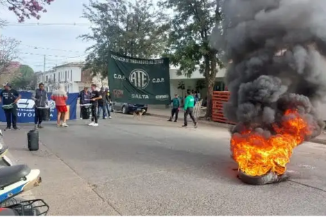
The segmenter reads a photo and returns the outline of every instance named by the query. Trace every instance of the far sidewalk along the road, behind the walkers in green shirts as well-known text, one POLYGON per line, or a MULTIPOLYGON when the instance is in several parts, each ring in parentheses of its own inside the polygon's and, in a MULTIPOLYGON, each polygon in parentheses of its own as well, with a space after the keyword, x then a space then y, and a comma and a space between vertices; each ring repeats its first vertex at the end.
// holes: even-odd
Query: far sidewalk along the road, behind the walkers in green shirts
MULTIPOLYGON (((171 116, 171 109, 156 109, 156 108, 149 107, 148 111, 147 111, 147 114, 151 115, 151 116, 157 116, 157 117, 162 117, 162 118, 165 118, 165 119, 169 119, 169 117, 171 116)), ((184 111, 180 110, 179 119, 183 119, 183 115, 184 115, 184 111)), ((200 114, 200 116, 204 116, 204 115, 205 114, 203 114, 203 113, 200 114)), ((198 123, 215 126, 217 128, 230 128, 231 127, 231 125, 229 125, 229 124, 218 123, 218 122, 214 122, 214 121, 206 121, 206 120, 203 120, 203 119, 199 119, 198 123)), ((322 134, 320 134, 315 139, 311 139, 311 142, 316 142, 318 144, 325 144, 326 145, 326 131, 325 131, 325 133, 322 132, 322 134)))

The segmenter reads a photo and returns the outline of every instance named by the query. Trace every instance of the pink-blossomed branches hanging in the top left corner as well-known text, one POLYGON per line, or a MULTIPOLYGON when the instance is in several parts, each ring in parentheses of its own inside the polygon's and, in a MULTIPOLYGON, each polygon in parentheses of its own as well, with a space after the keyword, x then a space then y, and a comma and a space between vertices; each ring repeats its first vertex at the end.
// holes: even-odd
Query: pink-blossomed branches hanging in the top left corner
POLYGON ((15 13, 19 22, 35 17, 40 19, 40 12, 46 12, 45 5, 54 0, 0 0, 0 4, 15 13))

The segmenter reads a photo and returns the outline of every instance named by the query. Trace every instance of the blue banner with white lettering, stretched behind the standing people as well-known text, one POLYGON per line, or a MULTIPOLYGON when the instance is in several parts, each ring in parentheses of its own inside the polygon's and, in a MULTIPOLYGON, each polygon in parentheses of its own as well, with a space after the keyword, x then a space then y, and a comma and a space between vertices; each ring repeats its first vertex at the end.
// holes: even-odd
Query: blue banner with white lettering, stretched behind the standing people
MULTIPOLYGON (((17 122, 18 123, 33 123, 34 122, 34 105, 35 102, 32 100, 31 92, 20 92, 22 98, 17 102, 17 122)), ((78 93, 68 94, 67 106, 69 105, 69 119, 76 119, 76 110, 77 110, 77 100, 78 93)), ((57 109, 55 108, 54 101, 51 100, 51 94, 48 93, 49 107, 50 107, 50 117, 51 121, 57 120, 57 109)), ((2 105, 2 103, 1 103, 2 105)), ((6 122, 6 116, 2 109, 0 109, 0 121, 6 122)))

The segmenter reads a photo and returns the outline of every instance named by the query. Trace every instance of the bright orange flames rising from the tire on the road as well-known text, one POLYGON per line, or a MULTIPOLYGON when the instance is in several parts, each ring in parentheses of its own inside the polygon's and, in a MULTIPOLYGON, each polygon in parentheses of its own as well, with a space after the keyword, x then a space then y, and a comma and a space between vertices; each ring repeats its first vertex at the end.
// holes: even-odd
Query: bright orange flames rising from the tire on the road
POLYGON ((273 125, 276 134, 268 139, 250 130, 232 135, 232 158, 243 173, 250 176, 285 173, 293 148, 301 144, 311 130, 297 111, 286 110, 284 115, 286 119, 280 125, 273 125))

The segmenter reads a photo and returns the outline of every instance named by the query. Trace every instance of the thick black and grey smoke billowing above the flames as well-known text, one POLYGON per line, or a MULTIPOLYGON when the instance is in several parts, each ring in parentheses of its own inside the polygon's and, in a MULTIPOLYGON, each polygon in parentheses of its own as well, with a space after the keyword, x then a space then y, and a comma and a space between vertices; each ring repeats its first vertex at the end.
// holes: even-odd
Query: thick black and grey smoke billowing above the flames
POLYGON ((210 44, 225 52, 231 95, 224 114, 238 123, 232 132, 250 125, 268 134, 293 108, 308 121, 311 137, 318 136, 324 123, 316 105, 326 96, 326 1, 226 0, 222 10, 223 33, 217 25, 210 44))

